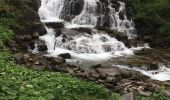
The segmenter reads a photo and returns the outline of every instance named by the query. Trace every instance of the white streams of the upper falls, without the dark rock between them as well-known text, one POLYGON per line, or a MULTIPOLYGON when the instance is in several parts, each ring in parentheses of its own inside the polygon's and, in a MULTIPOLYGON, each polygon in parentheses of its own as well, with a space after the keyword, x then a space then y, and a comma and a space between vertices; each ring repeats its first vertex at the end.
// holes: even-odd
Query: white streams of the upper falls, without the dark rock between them
MULTIPOLYGON (((70 15, 70 12, 72 8, 72 2, 75 1, 70 0, 70 3, 65 5, 66 1, 67 0, 42 0, 41 7, 39 9, 39 15, 42 21, 57 22, 63 21, 61 18, 61 15, 63 14, 72 16, 70 15), (65 6, 70 7, 70 11, 68 11, 68 13, 64 12, 65 6)), ((97 24, 103 26, 107 19, 109 20, 108 23, 111 24, 111 29, 123 32, 130 38, 136 36, 135 25, 133 21, 127 19, 126 6, 124 2, 118 2, 120 4, 118 12, 116 12, 115 8, 112 7, 110 0, 108 0, 107 6, 105 6, 104 3, 99 2, 99 0, 84 0, 83 3, 84 6, 81 13, 75 16, 70 22, 67 22, 66 25, 69 25, 68 27, 81 27, 81 25, 95 27, 97 24), (107 9, 109 9, 109 12, 106 11, 107 9), (120 18, 119 14, 123 16, 123 19, 120 18)))

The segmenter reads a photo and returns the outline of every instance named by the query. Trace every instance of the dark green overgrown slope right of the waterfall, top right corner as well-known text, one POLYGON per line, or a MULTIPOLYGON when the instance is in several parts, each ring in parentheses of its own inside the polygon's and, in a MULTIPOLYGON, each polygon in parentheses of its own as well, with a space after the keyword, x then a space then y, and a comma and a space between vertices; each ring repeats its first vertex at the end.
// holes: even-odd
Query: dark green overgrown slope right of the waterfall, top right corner
POLYGON ((170 0, 131 0, 143 34, 170 35, 170 0))

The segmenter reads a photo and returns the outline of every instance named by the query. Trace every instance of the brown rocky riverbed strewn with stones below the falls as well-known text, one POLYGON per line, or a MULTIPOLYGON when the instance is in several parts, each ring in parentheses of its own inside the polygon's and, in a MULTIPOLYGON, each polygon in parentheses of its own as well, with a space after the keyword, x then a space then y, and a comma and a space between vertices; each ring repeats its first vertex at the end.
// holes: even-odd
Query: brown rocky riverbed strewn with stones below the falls
POLYGON ((165 87, 165 94, 169 96, 170 81, 153 80, 141 72, 121 69, 116 65, 130 67, 142 67, 145 65, 147 70, 157 70, 159 63, 168 64, 170 51, 143 49, 135 54, 134 56, 112 58, 110 61, 99 62, 88 68, 66 63, 66 60, 69 58, 65 59, 65 56, 68 56, 68 54, 62 56, 63 58, 53 58, 32 53, 16 52, 14 58, 18 64, 28 68, 69 73, 88 81, 103 84, 112 91, 121 94, 133 92, 143 96, 151 96, 156 90, 165 87))

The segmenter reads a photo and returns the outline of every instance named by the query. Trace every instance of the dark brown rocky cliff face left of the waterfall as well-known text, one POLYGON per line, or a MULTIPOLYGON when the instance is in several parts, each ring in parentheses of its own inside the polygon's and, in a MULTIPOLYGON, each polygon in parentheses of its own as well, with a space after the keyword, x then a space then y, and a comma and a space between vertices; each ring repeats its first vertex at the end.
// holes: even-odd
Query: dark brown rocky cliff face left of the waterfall
POLYGON ((38 15, 40 0, 2 0, 1 2, 18 7, 20 12, 18 21, 23 28, 16 30, 14 36, 23 50, 28 50, 28 45, 31 45, 39 36, 46 34, 47 31, 38 15))

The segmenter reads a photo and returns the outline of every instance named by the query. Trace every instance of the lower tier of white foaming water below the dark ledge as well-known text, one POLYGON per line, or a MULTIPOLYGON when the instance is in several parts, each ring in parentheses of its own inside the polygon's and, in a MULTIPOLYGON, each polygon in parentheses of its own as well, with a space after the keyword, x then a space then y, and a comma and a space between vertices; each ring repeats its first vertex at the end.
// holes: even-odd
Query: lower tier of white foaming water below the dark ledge
POLYGON ((122 42, 104 32, 93 30, 92 35, 83 33, 83 35, 63 38, 63 35, 55 37, 55 31, 47 29, 48 34, 40 39, 47 43, 48 56, 56 57, 62 53, 70 53, 73 59, 106 60, 113 56, 133 54, 132 50, 126 48, 122 42))

